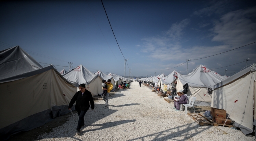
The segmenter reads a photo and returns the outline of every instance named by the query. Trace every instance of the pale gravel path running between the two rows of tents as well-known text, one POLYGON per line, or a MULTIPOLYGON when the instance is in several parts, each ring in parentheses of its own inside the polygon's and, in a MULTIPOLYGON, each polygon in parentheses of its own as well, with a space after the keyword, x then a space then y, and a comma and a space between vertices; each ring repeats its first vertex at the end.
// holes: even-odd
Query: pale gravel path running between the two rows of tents
MULTIPOLYGON (((111 93, 112 94, 112 93, 111 93)), ((199 126, 185 112, 176 112, 173 103, 132 82, 129 90, 119 90, 105 102, 95 101, 95 109, 85 114, 85 126, 76 135, 76 121, 69 116, 60 127, 42 134, 39 141, 254 141, 241 131, 228 127, 199 126)))

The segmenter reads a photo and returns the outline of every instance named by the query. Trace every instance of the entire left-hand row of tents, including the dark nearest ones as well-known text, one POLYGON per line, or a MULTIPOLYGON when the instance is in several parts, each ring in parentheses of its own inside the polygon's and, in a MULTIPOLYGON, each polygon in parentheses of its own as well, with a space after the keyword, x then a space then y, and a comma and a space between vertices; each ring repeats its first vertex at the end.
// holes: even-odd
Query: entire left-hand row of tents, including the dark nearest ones
POLYGON ((19 46, 0 51, 0 70, 0 140, 70 112, 67 105, 79 84, 97 96, 103 79, 113 85, 127 81, 101 71, 93 74, 83 65, 61 75, 52 65, 42 67, 19 46))

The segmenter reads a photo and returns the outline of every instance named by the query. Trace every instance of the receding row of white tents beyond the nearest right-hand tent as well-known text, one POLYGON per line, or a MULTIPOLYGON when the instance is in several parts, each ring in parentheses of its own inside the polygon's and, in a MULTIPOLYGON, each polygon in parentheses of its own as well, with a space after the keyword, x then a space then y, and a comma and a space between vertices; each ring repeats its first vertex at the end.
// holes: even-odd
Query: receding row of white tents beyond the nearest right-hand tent
POLYGON ((174 81, 177 81, 177 92, 183 90, 183 86, 187 83, 189 86, 187 95, 197 98, 196 105, 210 106, 210 93, 213 86, 226 78, 226 76, 221 76, 217 72, 213 72, 203 65, 199 65, 193 72, 187 75, 182 75, 177 71, 173 71, 168 76, 161 74, 150 78, 143 78, 141 80, 147 81, 148 83, 153 82, 155 83, 155 86, 161 87, 161 90, 163 90, 164 85, 169 85, 169 90, 171 90, 171 84, 174 83, 174 81))

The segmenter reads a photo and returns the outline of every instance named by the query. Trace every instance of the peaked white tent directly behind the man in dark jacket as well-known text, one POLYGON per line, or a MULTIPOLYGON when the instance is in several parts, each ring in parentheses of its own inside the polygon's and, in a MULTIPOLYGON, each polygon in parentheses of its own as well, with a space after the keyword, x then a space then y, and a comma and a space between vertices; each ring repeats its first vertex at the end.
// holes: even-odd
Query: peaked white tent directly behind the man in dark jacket
POLYGON ((78 65, 76 68, 68 71, 62 76, 67 80, 78 83, 79 85, 84 83, 86 85, 86 89, 91 92, 92 96, 98 96, 98 94, 102 94, 103 92, 103 78, 97 74, 93 74, 83 67, 83 65, 78 65))

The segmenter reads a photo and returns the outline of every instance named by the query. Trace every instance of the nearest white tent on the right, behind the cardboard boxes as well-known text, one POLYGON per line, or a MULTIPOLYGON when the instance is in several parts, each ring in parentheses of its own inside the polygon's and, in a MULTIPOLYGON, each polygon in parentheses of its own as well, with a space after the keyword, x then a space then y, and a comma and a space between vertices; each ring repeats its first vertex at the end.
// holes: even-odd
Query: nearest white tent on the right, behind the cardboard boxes
POLYGON ((244 134, 256 125, 256 64, 214 86, 211 107, 224 109, 244 134))

